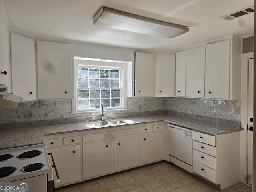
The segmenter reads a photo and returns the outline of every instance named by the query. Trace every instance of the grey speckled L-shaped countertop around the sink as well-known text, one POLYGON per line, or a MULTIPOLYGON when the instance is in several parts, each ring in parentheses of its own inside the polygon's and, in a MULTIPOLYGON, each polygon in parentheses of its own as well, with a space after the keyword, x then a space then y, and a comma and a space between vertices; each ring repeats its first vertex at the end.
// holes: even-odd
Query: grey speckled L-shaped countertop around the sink
MULTIPOLYGON (((126 117, 115 120, 122 120, 126 122, 125 124, 119 124, 118 126, 166 121, 172 124, 176 124, 178 126, 190 128, 192 130, 211 135, 227 134, 242 130, 242 128, 238 127, 220 125, 212 122, 174 116, 170 114, 126 117)), ((88 126, 86 126, 86 123, 87 122, 76 122, 66 124, 55 124, 50 126, 30 126, 27 128, 6 128, 4 130, 1 130, 0 149, 27 146, 33 144, 42 144, 43 136, 46 135, 63 134, 86 130, 90 131, 95 129, 107 129, 109 127, 112 127, 106 126, 98 128, 89 128, 88 126)))

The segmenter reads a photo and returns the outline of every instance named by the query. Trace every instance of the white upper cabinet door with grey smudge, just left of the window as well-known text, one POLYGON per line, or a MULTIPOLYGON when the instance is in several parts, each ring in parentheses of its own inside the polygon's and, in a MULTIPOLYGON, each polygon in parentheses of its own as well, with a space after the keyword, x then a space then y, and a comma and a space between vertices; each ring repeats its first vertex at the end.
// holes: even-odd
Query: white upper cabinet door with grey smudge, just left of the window
POLYGON ((38 99, 72 98, 70 44, 37 41, 38 99))

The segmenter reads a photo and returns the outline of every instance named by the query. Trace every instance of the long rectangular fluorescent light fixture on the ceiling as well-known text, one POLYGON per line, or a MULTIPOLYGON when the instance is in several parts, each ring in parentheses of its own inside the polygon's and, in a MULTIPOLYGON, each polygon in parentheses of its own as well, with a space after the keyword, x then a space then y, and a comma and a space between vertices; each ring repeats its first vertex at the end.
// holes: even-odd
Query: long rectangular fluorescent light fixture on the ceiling
POLYGON ((189 31, 186 26, 158 21, 106 7, 102 7, 94 16, 93 24, 164 38, 174 38, 189 31))

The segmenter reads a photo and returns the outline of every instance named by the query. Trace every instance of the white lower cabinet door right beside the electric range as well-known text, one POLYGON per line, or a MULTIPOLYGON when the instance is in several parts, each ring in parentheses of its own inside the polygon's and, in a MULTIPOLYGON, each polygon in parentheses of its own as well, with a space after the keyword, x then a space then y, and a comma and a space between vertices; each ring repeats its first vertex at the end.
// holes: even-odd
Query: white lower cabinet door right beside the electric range
MULTIPOLYGON (((81 151, 80 144, 54 149, 47 149, 51 152, 60 176, 60 183, 56 186, 68 184, 74 181, 81 180, 81 151)), ((52 164, 51 158, 49 158, 52 164)), ((54 172, 54 181, 57 180, 54 172)))

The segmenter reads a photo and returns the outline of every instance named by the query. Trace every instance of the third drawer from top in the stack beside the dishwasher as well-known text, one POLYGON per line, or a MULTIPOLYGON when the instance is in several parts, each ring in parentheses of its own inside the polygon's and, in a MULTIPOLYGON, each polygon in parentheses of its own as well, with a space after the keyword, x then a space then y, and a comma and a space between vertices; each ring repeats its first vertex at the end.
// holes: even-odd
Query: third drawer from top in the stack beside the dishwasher
POLYGON ((193 160, 216 170, 216 158, 193 149, 193 160))

